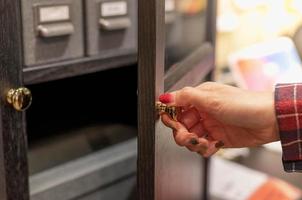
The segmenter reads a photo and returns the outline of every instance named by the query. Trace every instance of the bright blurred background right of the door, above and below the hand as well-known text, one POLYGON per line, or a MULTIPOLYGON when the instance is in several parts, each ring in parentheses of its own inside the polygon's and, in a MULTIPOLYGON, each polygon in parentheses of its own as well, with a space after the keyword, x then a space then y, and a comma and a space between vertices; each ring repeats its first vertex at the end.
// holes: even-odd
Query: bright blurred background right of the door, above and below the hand
MULTIPOLYGON (((302 81, 301 58, 302 1, 218 1, 217 82, 273 91, 276 83, 302 81)), ((285 173, 281 156, 279 142, 220 151, 212 160, 211 194, 217 199, 301 198, 302 175, 285 173)))

